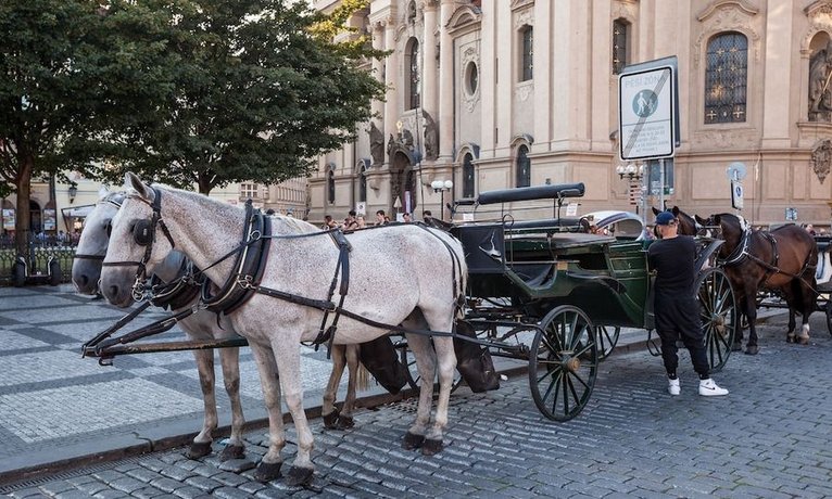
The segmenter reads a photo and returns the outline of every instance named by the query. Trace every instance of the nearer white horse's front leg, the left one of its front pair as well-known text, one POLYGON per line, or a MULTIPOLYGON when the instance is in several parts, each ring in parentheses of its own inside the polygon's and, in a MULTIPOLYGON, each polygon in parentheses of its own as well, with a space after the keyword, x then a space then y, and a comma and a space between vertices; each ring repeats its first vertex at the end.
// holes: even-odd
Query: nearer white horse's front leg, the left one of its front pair
POLYGON ((263 456, 263 460, 257 465, 257 470, 254 472, 254 479, 269 482, 280 476, 280 466, 283 464, 280 451, 286 446, 283 413, 280 410, 279 371, 270 348, 254 343, 251 343, 250 346, 254 360, 257 363, 260 384, 263 387, 263 399, 266 402, 266 411, 268 412, 269 437, 268 451, 263 456))

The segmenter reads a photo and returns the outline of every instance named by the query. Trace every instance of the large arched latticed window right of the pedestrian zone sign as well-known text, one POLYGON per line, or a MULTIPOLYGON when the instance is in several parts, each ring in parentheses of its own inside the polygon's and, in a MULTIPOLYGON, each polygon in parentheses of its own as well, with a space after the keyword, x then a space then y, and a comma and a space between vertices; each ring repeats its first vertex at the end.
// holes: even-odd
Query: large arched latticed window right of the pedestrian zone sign
POLYGON ((708 41, 705 123, 743 123, 748 87, 748 39, 722 33, 708 41))

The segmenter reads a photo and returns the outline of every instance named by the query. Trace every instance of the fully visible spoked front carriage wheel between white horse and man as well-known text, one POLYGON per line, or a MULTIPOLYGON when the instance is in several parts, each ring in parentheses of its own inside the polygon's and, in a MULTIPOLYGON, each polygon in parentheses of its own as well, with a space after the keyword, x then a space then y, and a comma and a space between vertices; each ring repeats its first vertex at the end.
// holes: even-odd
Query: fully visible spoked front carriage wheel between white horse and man
POLYGON ((531 396, 540 412, 555 421, 578 415, 590 400, 598 371, 595 328, 578 307, 546 314, 529 357, 531 396))

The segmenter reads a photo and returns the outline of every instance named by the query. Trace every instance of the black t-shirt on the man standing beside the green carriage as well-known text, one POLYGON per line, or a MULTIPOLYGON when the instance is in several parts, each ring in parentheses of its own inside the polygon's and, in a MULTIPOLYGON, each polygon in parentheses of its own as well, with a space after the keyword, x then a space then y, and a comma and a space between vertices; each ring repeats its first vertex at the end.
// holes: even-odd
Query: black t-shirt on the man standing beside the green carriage
POLYGON ((647 250, 651 270, 656 270, 656 291, 663 294, 680 293, 689 296, 695 277, 693 261, 696 243, 690 235, 677 235, 655 241, 647 250))

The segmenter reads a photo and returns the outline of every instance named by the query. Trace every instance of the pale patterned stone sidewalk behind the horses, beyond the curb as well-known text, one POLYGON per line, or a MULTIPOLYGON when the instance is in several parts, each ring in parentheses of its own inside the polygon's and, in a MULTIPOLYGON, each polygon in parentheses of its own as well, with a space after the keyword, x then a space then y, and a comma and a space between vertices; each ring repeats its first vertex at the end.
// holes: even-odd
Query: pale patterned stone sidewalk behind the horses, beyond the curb
MULTIPOLYGON (((0 484, 185 445, 201 428, 202 395, 190 353, 122 356, 113 367, 81 358, 81 344, 127 311, 79 296, 67 284, 0 287, 0 484)), ((165 316, 161 309, 148 309, 125 331, 165 316)), ((174 328, 159 341, 181 336, 174 328)), ((643 349, 646 338, 644 330, 622 330, 613 356, 643 349)), ((302 355, 304 407, 317 417, 331 364, 325 349, 304 347, 302 355)), ((501 371, 525 368, 515 360, 495 362, 501 371)), ((215 369, 222 433, 230 411, 218 360, 215 369)), ((248 348, 240 350, 240 376, 248 427, 263 427, 263 395, 248 348)), ((345 383, 346 376, 339 397, 345 383)), ((382 394, 373 386, 361 396, 381 400, 382 394)))

